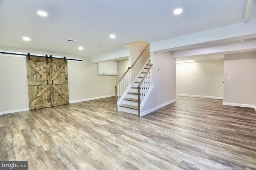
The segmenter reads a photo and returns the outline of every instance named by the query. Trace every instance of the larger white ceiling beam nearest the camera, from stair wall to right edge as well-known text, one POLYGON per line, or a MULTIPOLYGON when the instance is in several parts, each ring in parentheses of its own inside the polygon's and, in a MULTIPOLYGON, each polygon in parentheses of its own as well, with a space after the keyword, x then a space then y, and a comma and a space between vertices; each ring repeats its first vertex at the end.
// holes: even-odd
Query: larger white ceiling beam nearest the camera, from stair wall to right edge
POLYGON ((256 37, 256 20, 150 43, 150 52, 180 51, 256 37))

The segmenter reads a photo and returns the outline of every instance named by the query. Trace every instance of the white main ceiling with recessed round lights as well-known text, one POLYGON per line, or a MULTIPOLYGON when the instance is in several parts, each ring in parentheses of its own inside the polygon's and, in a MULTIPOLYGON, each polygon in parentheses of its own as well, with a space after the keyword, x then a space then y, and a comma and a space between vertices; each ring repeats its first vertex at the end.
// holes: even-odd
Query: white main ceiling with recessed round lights
MULTIPOLYGON (((0 0, 0 46, 95 57, 138 40, 153 43, 240 23, 245 9, 246 0, 0 0), (182 14, 175 16, 176 8, 182 14)), ((256 2, 250 19, 256 19, 256 2)))

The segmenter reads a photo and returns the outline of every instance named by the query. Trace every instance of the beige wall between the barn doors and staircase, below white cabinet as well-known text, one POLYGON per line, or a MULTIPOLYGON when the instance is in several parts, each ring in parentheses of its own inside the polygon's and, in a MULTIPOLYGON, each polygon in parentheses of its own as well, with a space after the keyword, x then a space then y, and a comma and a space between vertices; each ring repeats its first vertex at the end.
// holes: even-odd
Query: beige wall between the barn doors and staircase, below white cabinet
POLYGON ((83 62, 68 62, 68 87, 70 102, 114 96, 116 76, 98 75, 98 64, 83 58, 83 62), (84 94, 82 94, 84 92, 84 94))

